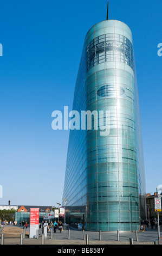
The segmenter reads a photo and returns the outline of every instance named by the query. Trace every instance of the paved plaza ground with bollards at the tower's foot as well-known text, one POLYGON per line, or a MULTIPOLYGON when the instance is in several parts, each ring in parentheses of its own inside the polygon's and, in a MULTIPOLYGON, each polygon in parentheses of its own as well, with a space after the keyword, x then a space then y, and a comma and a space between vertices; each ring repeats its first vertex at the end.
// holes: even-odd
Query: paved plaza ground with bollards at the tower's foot
MULTIPOLYGON (((162 232, 162 229, 161 229, 162 232)), ((23 229, 20 226, 4 226, 1 233, 4 233, 4 245, 20 245, 20 234, 23 229)), ((25 229, 24 245, 41 245, 42 244, 42 229, 39 229, 38 239, 29 239, 29 227, 25 229)), ((102 232, 101 241, 99 240, 99 232, 85 231, 85 237, 88 234, 89 245, 129 245, 129 238, 133 239, 134 245, 154 245, 154 241, 158 239, 158 230, 146 228, 144 232, 138 231, 138 241, 136 241, 135 231, 120 232, 119 241, 117 240, 116 232, 102 232)), ((160 234, 160 244, 162 245, 162 234, 160 234)), ((83 231, 75 228, 68 228, 60 233, 59 230, 53 233, 51 239, 50 231, 45 237, 44 245, 86 245, 86 240, 83 240, 83 231), (70 239, 68 239, 68 230, 70 230, 70 239)))

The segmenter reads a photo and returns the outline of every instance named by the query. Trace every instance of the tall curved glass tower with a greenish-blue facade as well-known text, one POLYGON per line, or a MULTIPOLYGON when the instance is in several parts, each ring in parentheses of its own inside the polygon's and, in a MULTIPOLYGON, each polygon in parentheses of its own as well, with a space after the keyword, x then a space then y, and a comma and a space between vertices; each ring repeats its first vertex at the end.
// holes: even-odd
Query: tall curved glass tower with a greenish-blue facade
POLYGON ((110 130, 105 136, 94 125, 70 130, 66 222, 82 222, 84 214, 87 230, 137 230, 146 217, 145 172, 133 40, 125 23, 106 20, 88 31, 73 110, 109 111, 110 130))

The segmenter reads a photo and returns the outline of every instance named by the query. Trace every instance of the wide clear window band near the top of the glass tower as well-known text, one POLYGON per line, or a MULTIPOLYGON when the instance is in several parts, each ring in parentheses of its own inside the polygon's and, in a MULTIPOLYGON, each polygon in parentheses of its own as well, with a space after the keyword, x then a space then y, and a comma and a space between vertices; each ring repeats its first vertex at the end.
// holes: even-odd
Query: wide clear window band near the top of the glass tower
POLYGON ((86 69, 102 62, 117 61, 134 69, 132 43, 120 34, 105 34, 93 39, 86 48, 86 69))

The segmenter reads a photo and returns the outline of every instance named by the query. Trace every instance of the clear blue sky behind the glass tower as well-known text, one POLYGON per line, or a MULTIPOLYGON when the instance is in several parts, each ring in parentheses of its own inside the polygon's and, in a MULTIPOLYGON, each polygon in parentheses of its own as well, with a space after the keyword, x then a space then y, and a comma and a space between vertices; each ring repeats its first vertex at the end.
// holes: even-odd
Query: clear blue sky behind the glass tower
MULTIPOLYGON (((1 3, 0 204, 62 202, 69 131, 52 130, 51 113, 72 109, 85 35, 106 10, 106 0, 1 3)), ((133 33, 146 192, 154 193, 162 184, 161 0, 111 0, 109 19, 133 33)))

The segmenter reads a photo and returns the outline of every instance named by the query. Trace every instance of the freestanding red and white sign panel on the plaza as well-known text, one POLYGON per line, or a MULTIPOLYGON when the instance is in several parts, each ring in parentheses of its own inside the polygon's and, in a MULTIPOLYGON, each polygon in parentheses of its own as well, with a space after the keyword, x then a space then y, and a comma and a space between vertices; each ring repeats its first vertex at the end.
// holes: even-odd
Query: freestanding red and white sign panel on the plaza
POLYGON ((30 234, 29 238, 36 238, 36 230, 39 229, 39 208, 30 208, 30 234))

